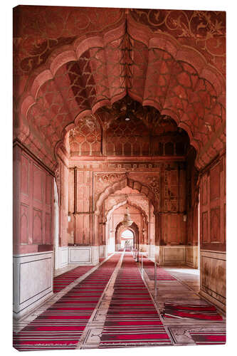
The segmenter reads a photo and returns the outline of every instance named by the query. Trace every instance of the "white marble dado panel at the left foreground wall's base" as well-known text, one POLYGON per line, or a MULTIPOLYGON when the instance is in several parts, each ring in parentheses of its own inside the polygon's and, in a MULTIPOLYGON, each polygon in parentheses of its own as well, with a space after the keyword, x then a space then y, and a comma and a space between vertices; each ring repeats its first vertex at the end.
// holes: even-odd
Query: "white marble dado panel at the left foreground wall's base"
POLYGON ((14 318, 53 295, 53 251, 14 255, 14 318))

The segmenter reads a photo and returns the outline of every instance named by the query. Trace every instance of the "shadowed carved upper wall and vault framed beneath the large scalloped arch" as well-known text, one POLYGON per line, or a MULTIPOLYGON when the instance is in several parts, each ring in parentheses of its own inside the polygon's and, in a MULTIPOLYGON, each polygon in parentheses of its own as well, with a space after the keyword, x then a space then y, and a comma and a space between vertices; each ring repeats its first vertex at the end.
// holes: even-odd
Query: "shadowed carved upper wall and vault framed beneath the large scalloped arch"
POLYGON ((66 147, 70 157, 185 155, 189 137, 171 117, 126 95, 90 117, 81 117, 68 132, 66 147))

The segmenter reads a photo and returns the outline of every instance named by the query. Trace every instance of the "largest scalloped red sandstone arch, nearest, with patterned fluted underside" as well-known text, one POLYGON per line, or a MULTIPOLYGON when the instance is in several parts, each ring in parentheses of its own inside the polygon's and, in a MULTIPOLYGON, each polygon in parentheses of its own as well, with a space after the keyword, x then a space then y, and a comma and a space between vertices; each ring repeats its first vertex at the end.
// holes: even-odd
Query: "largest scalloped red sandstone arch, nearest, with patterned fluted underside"
POLYGON ((122 24, 104 36, 77 38, 53 52, 28 80, 20 100, 22 119, 42 132, 56 155, 81 117, 128 93, 184 128, 197 151, 196 166, 203 167, 224 147, 223 76, 196 49, 164 33, 142 32, 132 17, 127 21, 127 32, 122 24), (68 68, 70 63, 74 69, 68 68), (93 93, 85 90, 92 86, 93 93))

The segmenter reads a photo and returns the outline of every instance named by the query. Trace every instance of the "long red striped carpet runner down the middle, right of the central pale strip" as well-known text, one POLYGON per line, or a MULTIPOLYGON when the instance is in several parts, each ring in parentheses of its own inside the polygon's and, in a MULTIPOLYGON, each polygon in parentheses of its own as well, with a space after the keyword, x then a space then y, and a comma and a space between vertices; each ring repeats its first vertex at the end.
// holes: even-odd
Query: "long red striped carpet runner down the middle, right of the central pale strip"
POLYGON ((125 253, 99 348, 171 344, 132 253, 125 253))

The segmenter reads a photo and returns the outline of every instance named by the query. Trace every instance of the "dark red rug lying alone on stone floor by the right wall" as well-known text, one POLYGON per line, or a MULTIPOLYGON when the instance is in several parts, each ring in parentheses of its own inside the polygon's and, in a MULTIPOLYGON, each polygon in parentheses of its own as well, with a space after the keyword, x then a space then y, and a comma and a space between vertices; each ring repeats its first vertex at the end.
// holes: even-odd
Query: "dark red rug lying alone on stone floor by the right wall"
POLYGON ((163 316, 172 319, 223 320, 214 305, 179 305, 164 303, 163 316))

